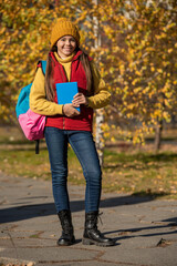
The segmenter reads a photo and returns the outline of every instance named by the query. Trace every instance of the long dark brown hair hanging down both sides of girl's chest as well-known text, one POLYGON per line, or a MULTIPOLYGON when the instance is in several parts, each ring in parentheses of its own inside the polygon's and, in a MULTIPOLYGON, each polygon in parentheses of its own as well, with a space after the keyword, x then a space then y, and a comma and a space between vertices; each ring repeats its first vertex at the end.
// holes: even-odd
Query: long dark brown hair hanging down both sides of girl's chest
MULTIPOLYGON (((58 48, 53 45, 53 48, 50 50, 50 52, 56 52, 58 48)), ((50 52, 48 54, 46 59, 46 71, 45 71, 45 92, 46 92, 46 99, 49 101, 54 100, 54 80, 53 80, 53 60, 50 55, 50 52)), ((92 74, 92 69, 91 69, 91 63, 87 54, 85 52, 82 52, 82 54, 79 57, 79 60, 81 61, 85 75, 86 75, 86 90, 87 90, 87 95, 93 95, 94 92, 94 86, 93 86, 93 74, 92 74)))

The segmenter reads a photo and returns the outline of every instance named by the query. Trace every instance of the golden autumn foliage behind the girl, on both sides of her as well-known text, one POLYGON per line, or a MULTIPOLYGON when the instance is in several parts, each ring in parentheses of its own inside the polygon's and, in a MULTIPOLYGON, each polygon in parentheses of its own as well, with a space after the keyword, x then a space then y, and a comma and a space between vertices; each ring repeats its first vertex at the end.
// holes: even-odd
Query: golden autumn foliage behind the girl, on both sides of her
POLYGON ((113 94, 104 131, 113 126, 118 135, 143 142, 145 134, 176 114, 175 0, 100 0, 97 4, 86 0, 0 0, 0 4, 3 120, 14 120, 19 88, 32 81, 38 60, 45 59, 50 28, 59 17, 80 25, 82 48, 95 59, 113 94), (94 45, 95 18, 101 47, 94 45))

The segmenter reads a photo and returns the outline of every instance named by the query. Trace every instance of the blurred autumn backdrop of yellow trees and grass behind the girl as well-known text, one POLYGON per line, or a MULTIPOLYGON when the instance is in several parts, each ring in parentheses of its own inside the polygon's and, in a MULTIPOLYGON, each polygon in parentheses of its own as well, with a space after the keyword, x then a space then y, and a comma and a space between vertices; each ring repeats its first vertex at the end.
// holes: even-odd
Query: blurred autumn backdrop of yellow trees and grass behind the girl
MULTIPOLYGON (((112 93, 95 112, 94 135, 103 188, 176 197, 177 6, 175 0, 0 0, 0 171, 50 178, 44 140, 40 155, 21 132, 15 104, 50 49, 56 18, 80 28, 81 48, 112 93)), ((69 150, 70 182, 84 184, 69 150)))

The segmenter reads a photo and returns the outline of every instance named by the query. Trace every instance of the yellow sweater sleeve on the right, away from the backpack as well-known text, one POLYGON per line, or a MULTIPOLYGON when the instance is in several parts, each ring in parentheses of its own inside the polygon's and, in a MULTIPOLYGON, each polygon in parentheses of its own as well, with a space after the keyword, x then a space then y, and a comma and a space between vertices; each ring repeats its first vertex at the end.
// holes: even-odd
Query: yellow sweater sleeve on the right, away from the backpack
POLYGON ((94 81, 94 95, 87 98, 87 102, 90 108, 101 109, 110 103, 111 93, 107 91, 104 80, 101 78, 97 68, 92 61, 91 68, 94 81))

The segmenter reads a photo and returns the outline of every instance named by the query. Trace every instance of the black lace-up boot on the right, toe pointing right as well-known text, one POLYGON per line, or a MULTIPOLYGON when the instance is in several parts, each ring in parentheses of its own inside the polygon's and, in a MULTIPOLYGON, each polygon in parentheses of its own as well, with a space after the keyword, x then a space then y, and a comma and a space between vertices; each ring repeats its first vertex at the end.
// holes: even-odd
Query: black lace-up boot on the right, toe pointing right
POLYGON ((98 212, 85 214, 85 229, 82 243, 84 245, 114 246, 115 242, 111 238, 105 238, 97 229, 97 216, 98 212))

